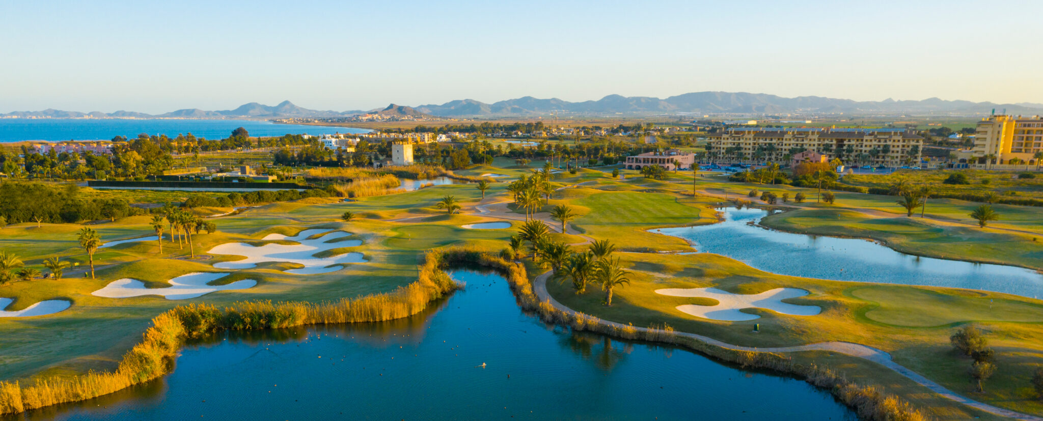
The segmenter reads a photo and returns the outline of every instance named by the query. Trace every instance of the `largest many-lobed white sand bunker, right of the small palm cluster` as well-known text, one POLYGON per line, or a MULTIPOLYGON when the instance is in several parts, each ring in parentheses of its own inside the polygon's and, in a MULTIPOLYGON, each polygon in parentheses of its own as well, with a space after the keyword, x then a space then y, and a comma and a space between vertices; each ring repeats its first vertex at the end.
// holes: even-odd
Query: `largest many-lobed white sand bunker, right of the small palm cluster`
POLYGON ((298 244, 265 244, 261 247, 254 247, 245 243, 225 243, 210 249, 208 253, 246 256, 242 261, 214 264, 214 267, 218 269, 249 269, 257 267, 259 263, 287 262, 304 265, 301 269, 286 271, 286 273, 298 275, 335 272, 340 270, 342 266, 334 265, 366 262, 362 257, 362 253, 344 253, 332 257, 315 257, 314 254, 321 251, 341 247, 355 247, 362 244, 361 240, 325 243, 329 240, 350 236, 350 233, 344 231, 333 231, 314 240, 306 240, 311 236, 325 231, 325 229, 306 229, 294 237, 270 233, 262 240, 287 240, 297 242, 298 244))

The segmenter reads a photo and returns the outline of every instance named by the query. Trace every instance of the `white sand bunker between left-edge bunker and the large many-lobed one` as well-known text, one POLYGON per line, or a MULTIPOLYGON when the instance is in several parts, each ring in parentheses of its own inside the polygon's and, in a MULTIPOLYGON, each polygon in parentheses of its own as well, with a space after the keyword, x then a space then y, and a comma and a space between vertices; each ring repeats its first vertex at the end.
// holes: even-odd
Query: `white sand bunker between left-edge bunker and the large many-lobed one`
POLYGON ((253 279, 241 279, 223 286, 209 286, 207 283, 226 276, 227 273, 187 273, 176 278, 170 279, 170 287, 167 288, 145 288, 145 283, 138 279, 123 278, 108 282, 105 288, 91 293, 98 297, 128 298, 141 297, 143 295, 162 295, 168 300, 184 300, 195 298, 203 294, 215 291, 245 290, 258 284, 253 279))

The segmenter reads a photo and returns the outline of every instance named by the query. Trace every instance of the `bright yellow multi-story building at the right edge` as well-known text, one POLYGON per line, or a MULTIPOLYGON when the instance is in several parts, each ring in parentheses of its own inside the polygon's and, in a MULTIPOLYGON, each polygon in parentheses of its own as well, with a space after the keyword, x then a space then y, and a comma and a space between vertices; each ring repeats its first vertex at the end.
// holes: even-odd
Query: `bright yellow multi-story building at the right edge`
MULTIPOLYGON (((974 131, 970 155, 989 164, 1010 164, 1012 158, 1035 165, 1037 152, 1043 152, 1043 118, 1033 116, 991 116, 983 119, 974 131)), ((1016 160, 1017 162, 1017 160, 1016 160)))

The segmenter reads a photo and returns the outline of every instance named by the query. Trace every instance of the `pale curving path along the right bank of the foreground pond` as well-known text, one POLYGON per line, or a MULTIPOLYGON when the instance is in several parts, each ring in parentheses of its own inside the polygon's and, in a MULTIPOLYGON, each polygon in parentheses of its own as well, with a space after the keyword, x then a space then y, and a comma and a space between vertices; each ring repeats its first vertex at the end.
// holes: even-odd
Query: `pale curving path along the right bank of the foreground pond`
MULTIPOLYGON (((551 304, 554 305, 554 307, 557 309, 569 314, 575 314, 576 313, 575 311, 562 305, 560 302, 555 300, 550 293, 547 292, 547 279, 551 276, 552 273, 553 271, 550 271, 542 275, 539 275, 533 281, 532 290, 536 294, 536 298, 538 298, 540 301, 550 301, 551 304)), ((616 327, 629 327, 627 325, 610 322, 607 320, 601 320, 601 323, 605 323, 607 325, 616 327)), ((648 330, 648 328, 637 327, 637 330, 646 331, 648 330)), ((865 358, 873 363, 879 364, 883 367, 887 367, 891 370, 894 370, 898 374, 901 374, 909 378, 911 380, 916 381, 917 383, 927 389, 930 389, 932 392, 942 395, 943 397, 950 399, 954 402, 963 403, 965 405, 972 406, 985 411, 987 413, 995 414, 1002 417, 1009 417, 1013 419, 1026 420, 1026 421, 1043 421, 1043 418, 1041 417, 1022 414, 1011 410, 1004 410, 1002 407, 997 407, 990 404, 981 403, 976 400, 961 396, 955 392, 952 392, 946 389, 945 387, 927 379, 926 377, 916 373, 915 371, 909 370, 895 363, 894 361, 891 360, 891 354, 889 354, 888 352, 866 345, 854 344, 850 342, 820 342, 816 344, 798 345, 798 346, 756 348, 756 347, 732 345, 726 342, 718 341, 713 338, 704 337, 702 335, 688 333, 682 331, 676 332, 676 335, 680 335, 686 338, 692 338, 697 341, 702 341, 710 345, 719 346, 725 349, 733 349, 738 351, 754 351, 754 352, 831 351, 831 352, 843 353, 846 355, 857 356, 859 358, 865 358)))

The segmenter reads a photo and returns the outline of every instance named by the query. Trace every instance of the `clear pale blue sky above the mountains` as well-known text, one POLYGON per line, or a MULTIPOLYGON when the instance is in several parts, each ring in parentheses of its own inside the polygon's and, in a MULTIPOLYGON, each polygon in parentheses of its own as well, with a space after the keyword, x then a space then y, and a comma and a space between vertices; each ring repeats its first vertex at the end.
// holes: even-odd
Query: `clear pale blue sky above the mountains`
POLYGON ((742 91, 1043 102, 1043 2, 0 0, 0 113, 742 91))

